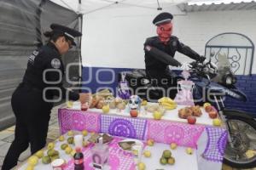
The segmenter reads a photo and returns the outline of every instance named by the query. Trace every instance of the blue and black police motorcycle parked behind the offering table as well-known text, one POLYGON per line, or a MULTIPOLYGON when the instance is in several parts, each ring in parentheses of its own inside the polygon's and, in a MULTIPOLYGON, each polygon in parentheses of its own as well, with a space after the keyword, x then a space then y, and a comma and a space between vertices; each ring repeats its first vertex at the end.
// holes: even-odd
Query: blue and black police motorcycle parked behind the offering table
MULTIPOLYGON (((242 102, 247 101, 247 96, 235 86, 236 77, 230 69, 228 59, 225 56, 218 56, 218 69, 212 65, 211 61, 207 63, 193 62, 191 65, 189 80, 195 83, 193 88, 195 104, 202 105, 209 102, 215 105, 218 109, 218 116, 228 131, 224 163, 230 167, 256 167, 256 114, 228 109, 224 105, 224 99, 227 96, 242 102), (202 96, 208 97, 202 98, 202 96)), ((126 72, 125 74, 133 92, 136 91, 136 88, 143 89, 143 93, 148 88, 153 88, 145 77, 144 71, 126 72), (134 79, 137 80, 137 84, 132 85, 131 82, 134 79)), ((171 71, 170 74, 176 80, 183 79, 174 71, 171 71)), ((145 95, 140 97, 147 98, 145 95)))

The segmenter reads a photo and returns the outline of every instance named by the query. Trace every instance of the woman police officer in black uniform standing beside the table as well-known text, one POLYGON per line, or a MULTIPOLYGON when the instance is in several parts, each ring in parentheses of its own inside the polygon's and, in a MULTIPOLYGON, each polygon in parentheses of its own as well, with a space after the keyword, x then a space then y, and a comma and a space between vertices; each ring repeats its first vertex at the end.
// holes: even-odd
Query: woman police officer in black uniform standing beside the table
POLYGON ((52 31, 44 33, 49 42, 33 51, 28 58, 23 81, 12 95, 11 105, 15 113, 15 140, 3 161, 3 170, 17 165, 20 154, 31 146, 31 153, 42 149, 46 144, 50 111, 55 95, 84 103, 90 94, 77 94, 62 87, 64 66, 61 54, 76 45, 75 37, 82 34, 66 26, 52 24, 52 31), (53 89, 55 88, 55 89, 53 89), (66 96, 68 94, 68 96, 66 96))

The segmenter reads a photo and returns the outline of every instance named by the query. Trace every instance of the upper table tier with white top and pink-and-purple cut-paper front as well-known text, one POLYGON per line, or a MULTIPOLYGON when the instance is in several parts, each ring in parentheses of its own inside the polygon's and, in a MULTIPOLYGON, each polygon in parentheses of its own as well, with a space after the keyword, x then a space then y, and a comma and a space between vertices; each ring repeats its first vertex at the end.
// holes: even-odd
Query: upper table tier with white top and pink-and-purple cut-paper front
MULTIPOLYGON (((98 109, 79 111, 61 108, 58 116, 61 133, 67 133, 71 129, 79 131, 87 129, 90 132, 109 133, 125 138, 154 139, 155 142, 167 146, 174 142, 179 146, 196 149, 196 169, 221 169, 227 141, 226 129, 213 127, 212 119, 203 110, 196 124, 189 125, 186 120, 177 116, 177 111, 183 107, 185 106, 178 105, 177 109, 166 111, 160 121, 154 120, 152 114, 146 113, 143 108, 137 118, 132 118, 127 107, 123 111, 110 110, 108 114, 102 114, 102 110, 98 109)), ((153 163, 150 162, 152 161, 148 162, 150 169, 154 169, 151 167, 153 163)), ((187 167, 177 169, 182 170, 187 167)))

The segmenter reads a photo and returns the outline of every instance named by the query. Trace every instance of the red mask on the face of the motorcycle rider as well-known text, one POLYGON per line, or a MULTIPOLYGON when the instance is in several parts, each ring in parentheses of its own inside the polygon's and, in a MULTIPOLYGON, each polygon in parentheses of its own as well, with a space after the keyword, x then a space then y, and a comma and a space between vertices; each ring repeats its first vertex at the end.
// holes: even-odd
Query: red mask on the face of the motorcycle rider
POLYGON ((158 34, 158 37, 160 38, 160 41, 163 43, 167 43, 172 35, 172 22, 164 23, 160 26, 157 26, 156 32, 158 34))

